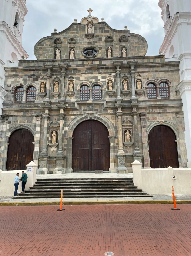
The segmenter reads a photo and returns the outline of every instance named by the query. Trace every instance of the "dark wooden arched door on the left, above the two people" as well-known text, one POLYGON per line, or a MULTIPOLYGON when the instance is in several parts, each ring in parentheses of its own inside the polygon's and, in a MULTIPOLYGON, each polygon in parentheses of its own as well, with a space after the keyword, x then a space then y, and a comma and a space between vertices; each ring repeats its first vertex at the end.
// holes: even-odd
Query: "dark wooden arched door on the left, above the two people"
POLYGON ((33 161, 34 136, 27 129, 14 131, 9 138, 6 169, 25 170, 26 165, 33 161))

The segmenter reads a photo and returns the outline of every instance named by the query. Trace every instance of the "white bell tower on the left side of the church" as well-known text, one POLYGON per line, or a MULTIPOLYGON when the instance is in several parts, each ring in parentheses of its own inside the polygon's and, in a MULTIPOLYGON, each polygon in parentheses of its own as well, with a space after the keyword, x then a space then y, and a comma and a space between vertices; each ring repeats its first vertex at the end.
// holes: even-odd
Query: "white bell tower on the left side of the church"
POLYGON ((4 89, 4 65, 17 65, 22 56, 28 58, 22 47, 22 31, 27 12, 25 0, 0 0, 0 114, 7 93, 4 89))

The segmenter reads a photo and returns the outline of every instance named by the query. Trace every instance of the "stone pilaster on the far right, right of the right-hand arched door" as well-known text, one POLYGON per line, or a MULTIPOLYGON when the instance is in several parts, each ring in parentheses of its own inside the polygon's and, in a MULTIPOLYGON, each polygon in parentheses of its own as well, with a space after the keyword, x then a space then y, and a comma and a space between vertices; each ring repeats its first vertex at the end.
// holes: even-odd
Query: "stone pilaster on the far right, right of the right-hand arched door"
POLYGON ((186 151, 185 136, 184 136, 184 132, 185 132, 184 112, 183 111, 176 112, 176 116, 177 116, 180 156, 181 156, 181 164, 182 164, 182 166, 179 166, 179 167, 186 168, 187 167, 187 151, 186 151))

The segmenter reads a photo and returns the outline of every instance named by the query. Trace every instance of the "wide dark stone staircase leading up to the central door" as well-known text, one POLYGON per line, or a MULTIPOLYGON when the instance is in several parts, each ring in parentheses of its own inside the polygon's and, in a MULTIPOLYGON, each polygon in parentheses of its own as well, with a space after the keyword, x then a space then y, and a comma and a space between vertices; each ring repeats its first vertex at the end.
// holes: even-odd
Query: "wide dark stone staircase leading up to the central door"
POLYGON ((141 197, 152 196, 134 186, 132 178, 37 179, 17 198, 141 197))

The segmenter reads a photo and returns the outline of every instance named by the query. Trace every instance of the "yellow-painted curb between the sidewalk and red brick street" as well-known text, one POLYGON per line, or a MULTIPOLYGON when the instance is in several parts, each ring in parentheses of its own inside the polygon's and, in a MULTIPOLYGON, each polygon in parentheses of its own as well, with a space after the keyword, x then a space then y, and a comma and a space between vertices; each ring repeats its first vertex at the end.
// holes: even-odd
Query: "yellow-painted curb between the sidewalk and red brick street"
MULTIPOLYGON (((191 204, 191 200, 177 200, 177 204, 191 204)), ((63 205, 91 205, 91 204, 173 204, 173 200, 145 200, 145 201, 73 201, 63 202, 63 205)), ((0 206, 40 206, 60 205, 60 202, 7 202, 0 206)))

